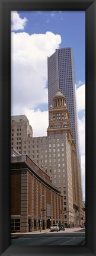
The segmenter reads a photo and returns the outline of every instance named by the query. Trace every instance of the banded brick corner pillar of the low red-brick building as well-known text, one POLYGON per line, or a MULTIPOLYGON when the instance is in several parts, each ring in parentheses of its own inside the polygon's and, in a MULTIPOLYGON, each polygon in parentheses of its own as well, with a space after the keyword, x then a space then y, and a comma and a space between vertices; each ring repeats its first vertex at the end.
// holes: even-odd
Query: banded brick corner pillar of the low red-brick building
POLYGON ((21 171, 20 232, 28 232, 28 171, 21 171))

